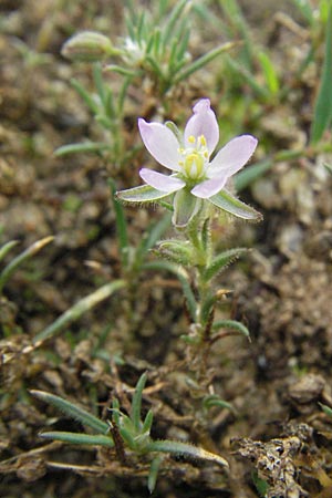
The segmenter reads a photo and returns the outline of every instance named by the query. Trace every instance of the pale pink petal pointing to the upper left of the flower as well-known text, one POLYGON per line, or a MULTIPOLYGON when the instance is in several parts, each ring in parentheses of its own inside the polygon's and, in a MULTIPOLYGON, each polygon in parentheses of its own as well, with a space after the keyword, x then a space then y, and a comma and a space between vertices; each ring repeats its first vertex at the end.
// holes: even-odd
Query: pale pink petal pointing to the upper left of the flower
POLYGON ((138 128, 145 147, 163 166, 179 172, 179 143, 174 133, 160 123, 147 123, 139 117, 138 128))

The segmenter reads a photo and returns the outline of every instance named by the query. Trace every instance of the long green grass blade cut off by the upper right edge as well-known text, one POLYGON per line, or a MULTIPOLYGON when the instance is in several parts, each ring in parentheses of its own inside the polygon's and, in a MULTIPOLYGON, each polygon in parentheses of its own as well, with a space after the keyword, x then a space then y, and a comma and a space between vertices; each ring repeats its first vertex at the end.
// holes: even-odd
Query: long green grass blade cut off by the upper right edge
POLYGON ((330 6, 325 32, 325 55, 311 126, 313 144, 322 138, 332 121, 332 6, 330 6))

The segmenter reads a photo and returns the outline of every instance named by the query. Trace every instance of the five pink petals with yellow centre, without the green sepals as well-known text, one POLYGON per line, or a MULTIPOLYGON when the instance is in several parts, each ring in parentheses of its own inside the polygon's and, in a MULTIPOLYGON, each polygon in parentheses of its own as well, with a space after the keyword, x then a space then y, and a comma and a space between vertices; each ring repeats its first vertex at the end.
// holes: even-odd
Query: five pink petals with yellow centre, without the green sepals
POLYGON ((200 100, 194 106, 194 115, 185 127, 183 144, 179 144, 167 125, 146 123, 139 118, 138 127, 151 155, 174 172, 166 176, 143 168, 141 178, 151 187, 167 194, 188 187, 194 196, 201 199, 212 197, 225 187, 228 178, 248 163, 258 142, 251 135, 237 136, 210 160, 219 142, 219 127, 208 98, 200 100))

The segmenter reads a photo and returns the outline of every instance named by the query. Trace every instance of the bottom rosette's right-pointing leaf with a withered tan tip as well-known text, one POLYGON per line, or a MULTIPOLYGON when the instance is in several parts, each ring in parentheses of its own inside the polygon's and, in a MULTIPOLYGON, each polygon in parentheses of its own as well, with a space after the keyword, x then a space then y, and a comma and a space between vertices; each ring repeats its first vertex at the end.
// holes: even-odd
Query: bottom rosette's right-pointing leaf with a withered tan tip
POLYGON ((147 450, 149 452, 162 452, 170 453, 175 455, 186 455, 194 458, 199 458, 203 460, 214 461, 215 464, 221 465, 222 467, 229 467, 228 461, 225 460, 219 455, 215 453, 207 452, 206 449, 194 446, 189 443, 181 443, 177 440, 152 440, 147 445, 147 450))

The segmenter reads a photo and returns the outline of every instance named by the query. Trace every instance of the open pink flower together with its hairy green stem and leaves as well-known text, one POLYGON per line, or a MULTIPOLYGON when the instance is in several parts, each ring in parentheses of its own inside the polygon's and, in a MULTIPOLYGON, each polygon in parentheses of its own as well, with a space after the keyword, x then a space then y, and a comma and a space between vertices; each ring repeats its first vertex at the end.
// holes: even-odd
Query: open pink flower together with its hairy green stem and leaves
POLYGON ((125 203, 162 203, 173 211, 172 222, 183 237, 162 241, 158 253, 177 264, 187 281, 187 307, 193 324, 185 339, 200 355, 204 346, 221 339, 222 333, 216 333, 221 328, 249 335, 239 322, 214 322, 215 307, 224 292, 216 291, 212 280, 246 249, 216 253, 211 222, 220 212, 246 220, 261 218, 226 188, 229 178, 251 157, 257 139, 251 135, 238 136, 210 160, 219 141, 219 127, 208 98, 194 106, 183 136, 174 123, 147 123, 141 118, 138 127, 148 152, 173 173, 166 176, 142 168, 139 175, 146 185, 122 190, 117 197, 125 203))

